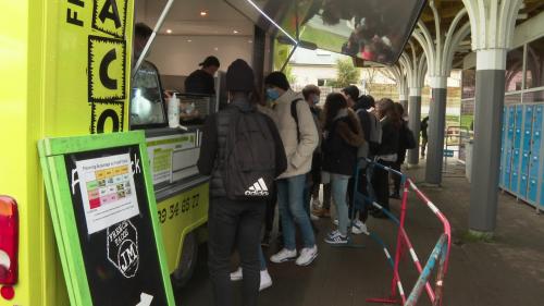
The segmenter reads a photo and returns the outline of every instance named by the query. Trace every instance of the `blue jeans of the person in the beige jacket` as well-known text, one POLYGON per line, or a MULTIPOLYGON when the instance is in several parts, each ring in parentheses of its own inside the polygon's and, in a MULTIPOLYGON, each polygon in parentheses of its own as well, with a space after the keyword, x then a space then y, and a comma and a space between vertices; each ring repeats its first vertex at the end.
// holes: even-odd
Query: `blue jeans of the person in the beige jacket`
POLYGON ((277 205, 282 217, 283 241, 285 248, 296 249, 295 222, 300 228, 304 247, 313 247, 316 236, 311 228, 310 217, 305 209, 304 192, 306 175, 277 180, 277 205))

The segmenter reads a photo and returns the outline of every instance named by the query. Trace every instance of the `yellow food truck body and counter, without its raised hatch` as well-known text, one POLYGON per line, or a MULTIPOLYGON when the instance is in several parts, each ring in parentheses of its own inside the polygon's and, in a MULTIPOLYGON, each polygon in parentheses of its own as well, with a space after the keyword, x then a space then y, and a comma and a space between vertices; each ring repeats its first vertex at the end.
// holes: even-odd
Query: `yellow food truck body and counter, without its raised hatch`
POLYGON ((168 128, 159 75, 143 66, 146 79, 131 81, 133 0, 1 8, 0 305, 70 305, 39 168, 45 137, 146 131, 168 267, 173 285, 183 285, 206 238, 198 124, 217 111, 218 98, 181 95, 201 120, 168 128), (131 103, 134 95, 145 103, 131 103))

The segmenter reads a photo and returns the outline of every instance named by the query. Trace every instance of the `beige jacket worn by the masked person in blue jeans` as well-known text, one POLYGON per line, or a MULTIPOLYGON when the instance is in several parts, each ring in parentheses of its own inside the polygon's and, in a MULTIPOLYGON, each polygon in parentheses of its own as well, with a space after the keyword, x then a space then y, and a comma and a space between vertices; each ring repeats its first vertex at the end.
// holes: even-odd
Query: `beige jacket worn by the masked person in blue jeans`
POLYGON ((318 147, 319 135, 310 112, 310 107, 302 95, 287 90, 276 101, 275 119, 287 156, 287 170, 279 179, 293 178, 310 172, 313 150, 318 147), (297 124, 290 114, 290 103, 297 102, 298 126, 300 142, 297 140, 297 124))

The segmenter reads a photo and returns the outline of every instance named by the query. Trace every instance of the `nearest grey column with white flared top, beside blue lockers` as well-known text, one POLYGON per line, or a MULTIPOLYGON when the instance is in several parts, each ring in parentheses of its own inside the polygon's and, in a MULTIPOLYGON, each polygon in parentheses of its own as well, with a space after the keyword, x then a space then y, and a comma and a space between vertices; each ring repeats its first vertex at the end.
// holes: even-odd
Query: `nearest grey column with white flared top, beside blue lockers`
POLYGON ((462 0, 477 52, 474 147, 469 227, 492 235, 496 225, 506 53, 522 0, 462 0))

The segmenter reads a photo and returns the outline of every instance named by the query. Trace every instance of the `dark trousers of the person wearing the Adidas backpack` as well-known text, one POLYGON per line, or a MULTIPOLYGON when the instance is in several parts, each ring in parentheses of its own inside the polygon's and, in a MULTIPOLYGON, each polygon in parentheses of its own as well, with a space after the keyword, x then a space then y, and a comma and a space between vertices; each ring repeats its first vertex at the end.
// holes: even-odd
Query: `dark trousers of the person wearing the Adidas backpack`
POLYGON ((260 284, 259 241, 264 201, 212 198, 208 211, 208 268, 215 306, 232 306, 231 256, 236 248, 244 270, 243 305, 256 306, 260 284))

